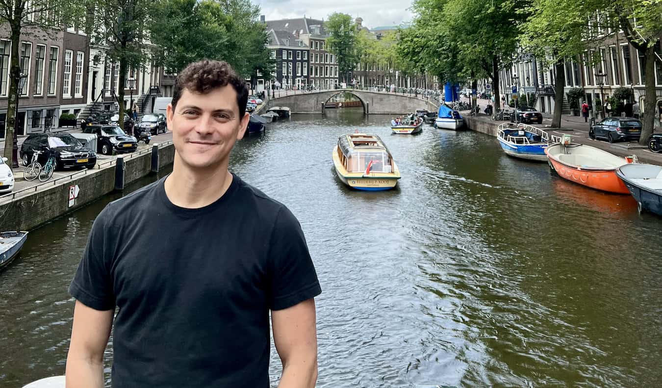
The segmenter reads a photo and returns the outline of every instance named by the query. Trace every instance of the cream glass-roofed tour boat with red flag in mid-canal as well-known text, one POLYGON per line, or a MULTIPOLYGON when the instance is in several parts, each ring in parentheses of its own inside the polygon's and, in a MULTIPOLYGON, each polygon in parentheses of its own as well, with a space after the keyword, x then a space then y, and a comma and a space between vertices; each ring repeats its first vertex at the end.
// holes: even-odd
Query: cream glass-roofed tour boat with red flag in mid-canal
POLYGON ((332 157, 340 180, 354 189, 393 189, 400 179, 398 166, 376 134, 353 133, 340 136, 332 157))

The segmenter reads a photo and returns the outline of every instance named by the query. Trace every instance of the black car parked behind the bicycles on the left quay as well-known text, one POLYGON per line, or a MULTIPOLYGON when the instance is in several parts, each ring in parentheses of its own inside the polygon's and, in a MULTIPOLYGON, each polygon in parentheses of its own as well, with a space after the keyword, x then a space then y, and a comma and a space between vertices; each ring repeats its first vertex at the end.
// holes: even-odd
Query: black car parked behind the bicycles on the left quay
POLYGON ((67 132, 30 134, 21 144, 19 152, 24 166, 32 162, 34 151, 43 152, 37 159, 40 164, 46 164, 48 156, 55 156, 56 170, 64 167, 94 168, 97 164, 97 154, 84 148, 81 142, 67 132))

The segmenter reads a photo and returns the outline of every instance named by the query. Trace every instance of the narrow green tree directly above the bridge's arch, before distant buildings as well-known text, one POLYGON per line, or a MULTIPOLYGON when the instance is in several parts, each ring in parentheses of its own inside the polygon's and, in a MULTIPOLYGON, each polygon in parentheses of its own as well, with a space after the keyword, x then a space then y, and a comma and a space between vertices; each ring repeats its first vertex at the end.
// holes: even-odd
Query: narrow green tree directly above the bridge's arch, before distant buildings
POLYGON ((332 13, 324 23, 330 36, 326 38, 328 50, 338 58, 338 72, 347 82, 357 64, 357 28, 352 17, 346 13, 332 13))

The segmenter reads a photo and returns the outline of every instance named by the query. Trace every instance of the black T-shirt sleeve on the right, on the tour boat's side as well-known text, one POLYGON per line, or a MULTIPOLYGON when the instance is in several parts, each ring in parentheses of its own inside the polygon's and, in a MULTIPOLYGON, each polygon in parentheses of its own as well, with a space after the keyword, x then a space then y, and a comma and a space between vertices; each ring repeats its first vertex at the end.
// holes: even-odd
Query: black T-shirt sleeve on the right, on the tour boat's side
POLYGON ((269 308, 287 309, 322 293, 297 218, 279 210, 269 240, 269 308))

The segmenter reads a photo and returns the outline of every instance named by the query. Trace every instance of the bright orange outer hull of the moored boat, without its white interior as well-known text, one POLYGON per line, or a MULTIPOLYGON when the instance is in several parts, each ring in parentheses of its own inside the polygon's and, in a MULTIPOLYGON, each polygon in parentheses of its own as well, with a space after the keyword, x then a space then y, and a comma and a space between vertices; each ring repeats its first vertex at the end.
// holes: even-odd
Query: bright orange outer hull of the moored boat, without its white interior
POLYGON ((629 194, 630 191, 625 183, 616 176, 614 170, 581 170, 573 166, 563 164, 553 158, 549 158, 549 163, 563 179, 567 179, 580 185, 591 187, 608 193, 629 194))

